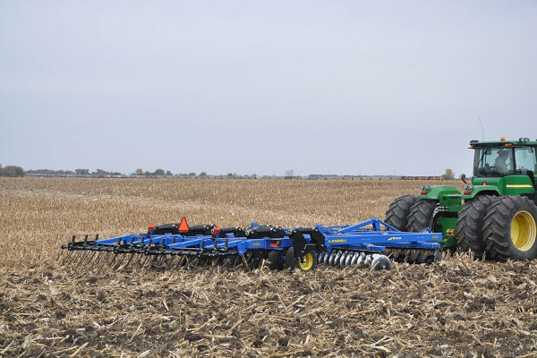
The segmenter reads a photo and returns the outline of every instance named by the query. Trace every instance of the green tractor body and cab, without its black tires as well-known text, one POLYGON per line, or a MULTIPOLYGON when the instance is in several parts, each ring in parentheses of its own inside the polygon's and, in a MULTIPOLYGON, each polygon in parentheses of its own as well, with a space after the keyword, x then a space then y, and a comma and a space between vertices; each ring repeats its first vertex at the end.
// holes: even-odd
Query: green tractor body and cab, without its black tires
POLYGON ((456 248, 457 215, 465 200, 478 195, 524 195, 537 203, 537 141, 471 141, 470 148, 473 177, 463 192, 449 185, 422 186, 421 199, 438 201, 430 228, 443 234, 443 247, 456 248))

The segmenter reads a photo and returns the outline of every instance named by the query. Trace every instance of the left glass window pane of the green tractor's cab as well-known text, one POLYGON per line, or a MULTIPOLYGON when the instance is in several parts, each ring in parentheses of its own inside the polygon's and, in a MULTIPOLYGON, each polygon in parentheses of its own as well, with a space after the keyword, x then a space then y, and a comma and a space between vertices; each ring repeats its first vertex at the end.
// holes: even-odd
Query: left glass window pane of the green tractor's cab
POLYGON ((495 177, 513 173, 512 149, 505 147, 475 149, 473 175, 495 177))

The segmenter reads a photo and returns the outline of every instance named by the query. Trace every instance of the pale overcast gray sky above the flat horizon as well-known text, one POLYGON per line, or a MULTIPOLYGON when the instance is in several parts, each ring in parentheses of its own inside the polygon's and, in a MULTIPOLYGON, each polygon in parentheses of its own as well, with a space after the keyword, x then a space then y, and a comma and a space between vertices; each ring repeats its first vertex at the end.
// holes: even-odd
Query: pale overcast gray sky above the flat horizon
POLYGON ((536 38, 536 1, 0 0, 0 164, 470 174, 537 139, 536 38))

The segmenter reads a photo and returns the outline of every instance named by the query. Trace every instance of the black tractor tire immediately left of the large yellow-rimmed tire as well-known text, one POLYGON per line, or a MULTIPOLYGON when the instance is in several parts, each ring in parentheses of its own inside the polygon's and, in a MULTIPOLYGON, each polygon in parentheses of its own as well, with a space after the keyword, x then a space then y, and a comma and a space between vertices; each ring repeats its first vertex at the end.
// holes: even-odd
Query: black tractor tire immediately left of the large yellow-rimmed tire
POLYGON ((480 195, 465 201, 456 221, 456 246, 460 251, 473 252, 473 259, 481 260, 485 253, 483 218, 495 196, 480 195))

